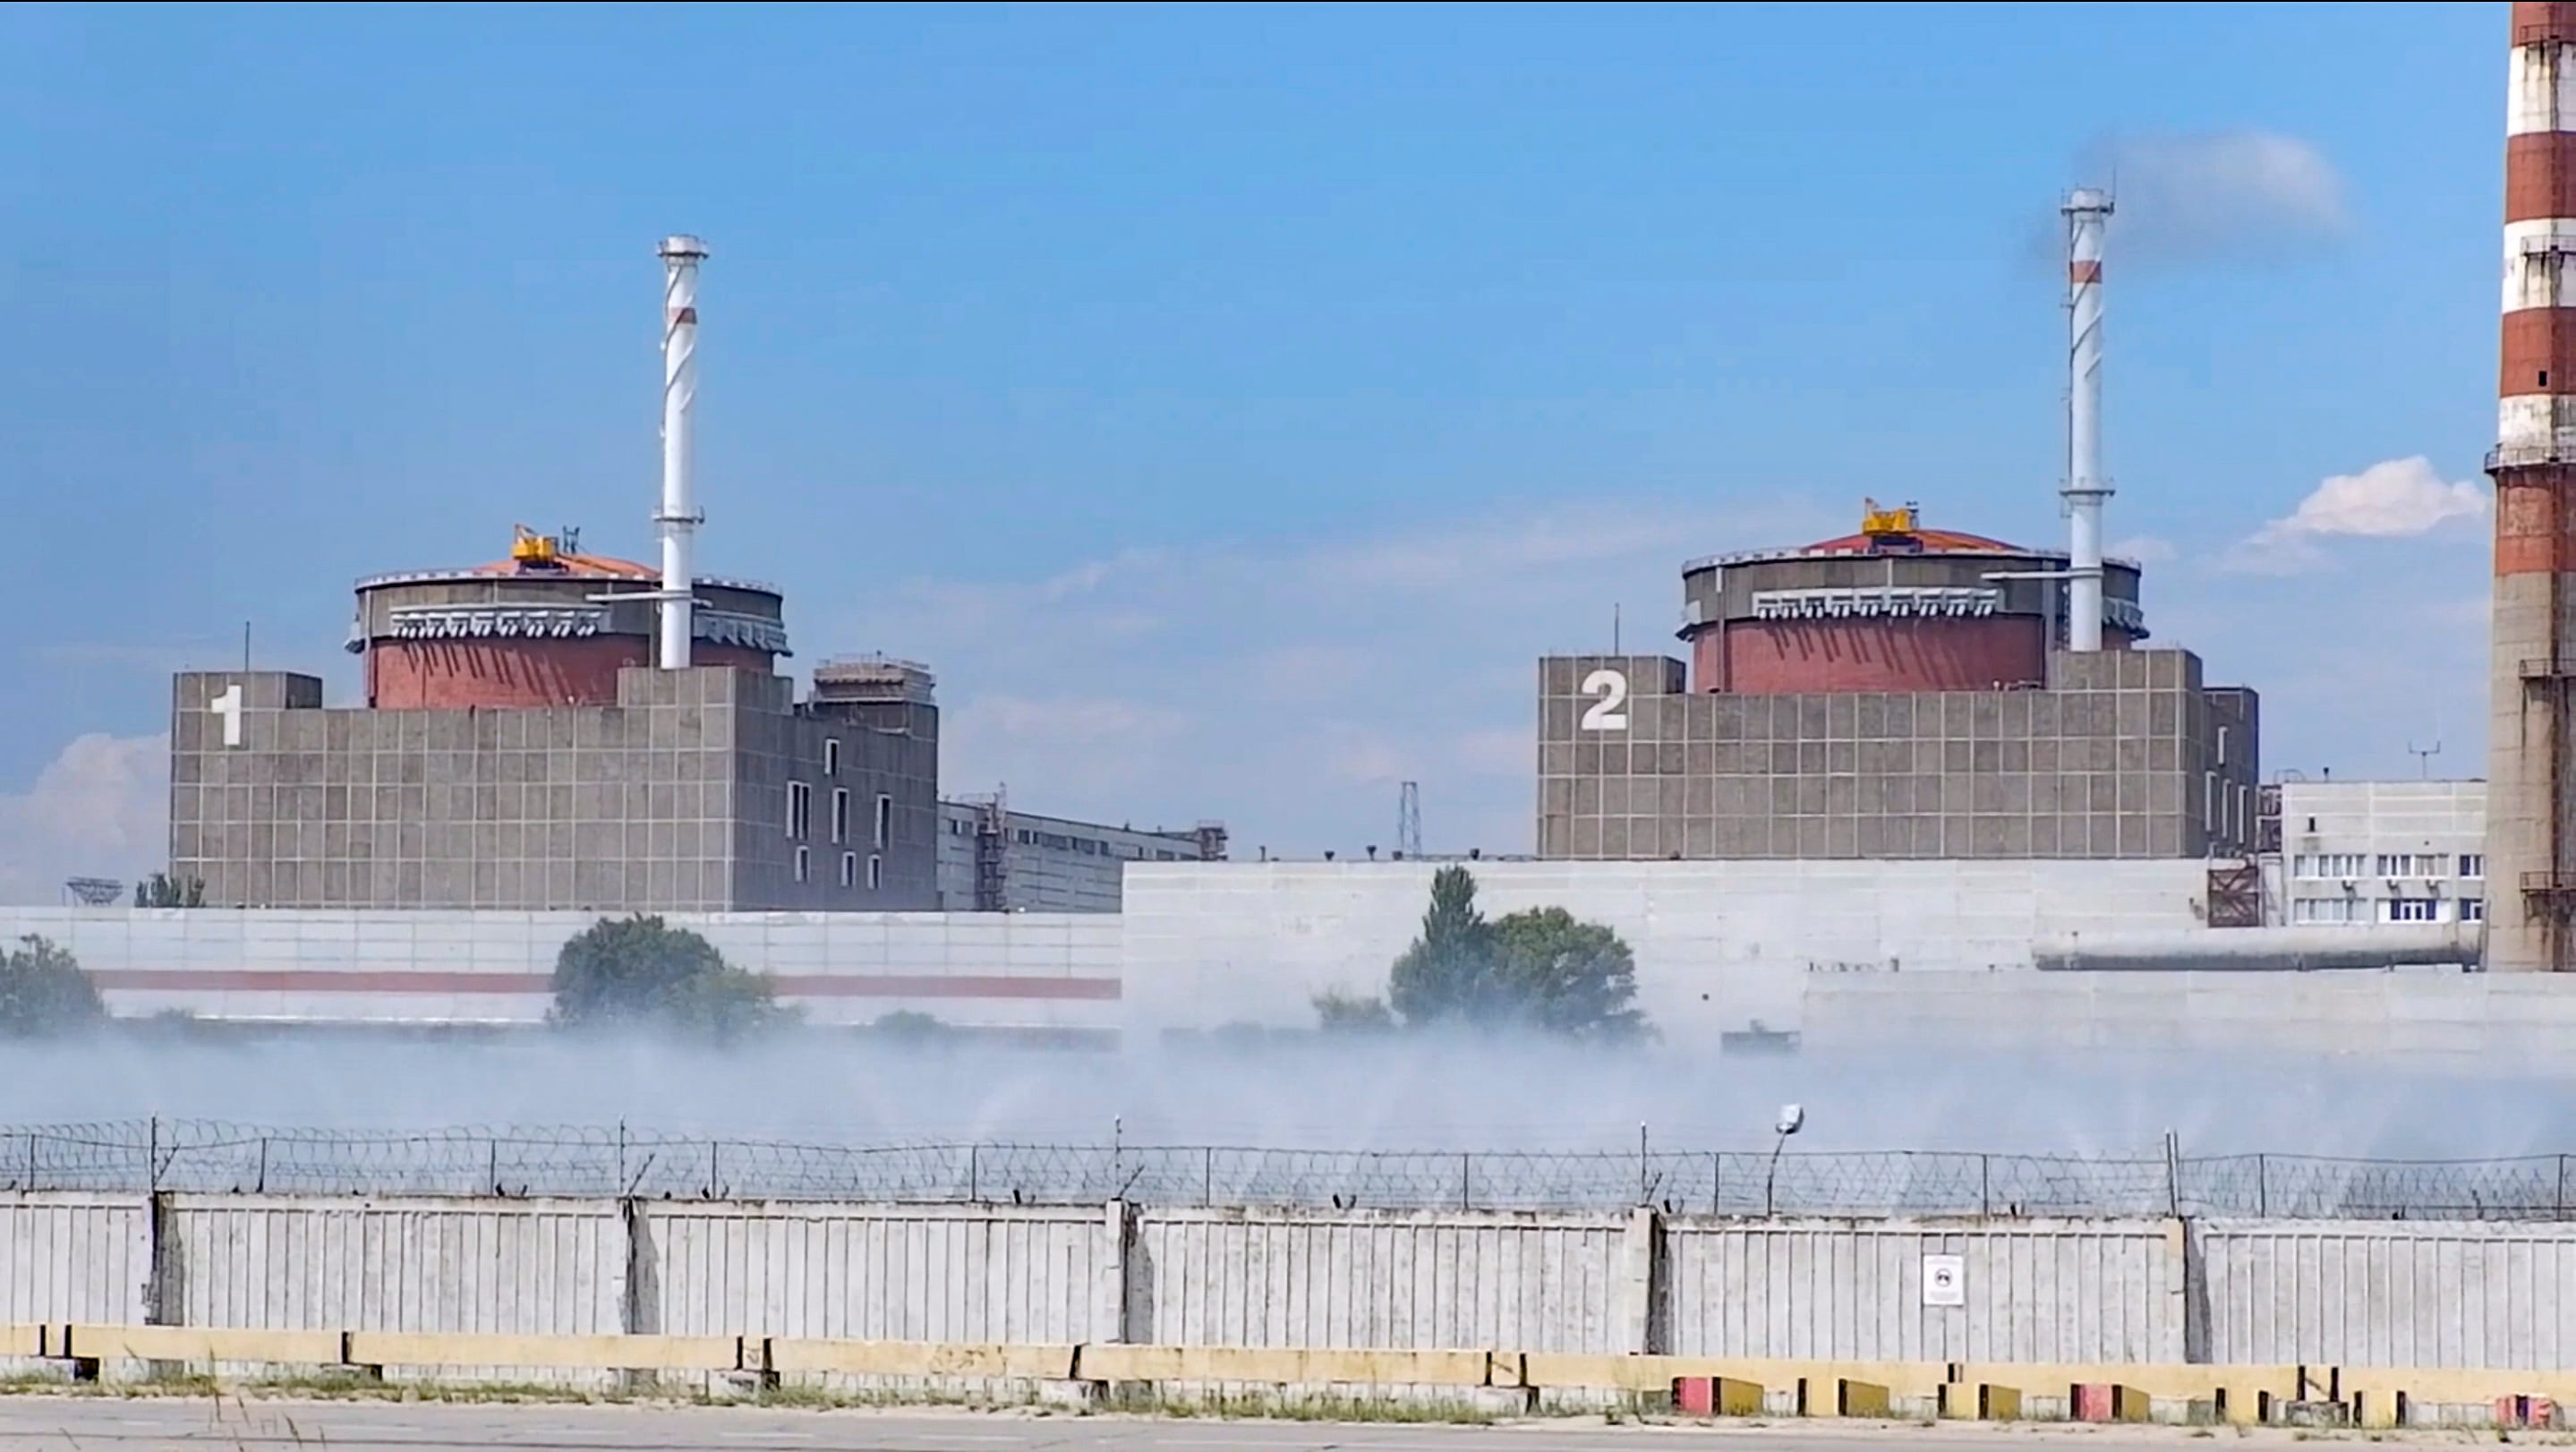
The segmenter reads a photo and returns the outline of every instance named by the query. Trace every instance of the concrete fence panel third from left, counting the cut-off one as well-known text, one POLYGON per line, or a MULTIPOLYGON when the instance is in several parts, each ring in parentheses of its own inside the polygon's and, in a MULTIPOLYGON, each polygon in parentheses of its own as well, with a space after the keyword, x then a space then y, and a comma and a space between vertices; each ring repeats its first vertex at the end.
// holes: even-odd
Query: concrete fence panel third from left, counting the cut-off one
POLYGON ((636 1331, 1115 1339, 1118 1238, 1103 1207, 654 1202, 639 1236, 639 1305, 659 1321, 636 1331))

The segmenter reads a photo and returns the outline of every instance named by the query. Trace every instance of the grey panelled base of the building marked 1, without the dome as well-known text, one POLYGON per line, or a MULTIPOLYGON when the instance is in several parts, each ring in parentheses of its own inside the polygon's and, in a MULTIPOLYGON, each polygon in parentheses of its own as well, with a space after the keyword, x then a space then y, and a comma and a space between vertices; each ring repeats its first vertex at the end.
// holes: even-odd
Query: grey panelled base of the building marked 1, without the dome
POLYGON ((616 685, 613 705, 325 711, 314 677, 180 675, 173 873, 216 906, 938 906, 935 708, 894 734, 773 675, 616 685))

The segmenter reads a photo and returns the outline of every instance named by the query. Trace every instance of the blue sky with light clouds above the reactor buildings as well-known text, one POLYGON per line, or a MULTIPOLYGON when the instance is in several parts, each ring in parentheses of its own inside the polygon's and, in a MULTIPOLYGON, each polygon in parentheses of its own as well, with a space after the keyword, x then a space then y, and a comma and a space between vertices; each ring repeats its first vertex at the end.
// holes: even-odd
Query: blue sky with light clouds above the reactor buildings
POLYGON ((242 620, 345 693, 358 574, 649 554, 677 229, 703 564, 804 664, 927 659, 951 790, 1311 852, 1414 777, 1520 850, 1533 656, 1662 636, 1682 559, 1862 494, 2058 538, 2053 206, 2117 172, 2151 626, 2267 765, 2473 775, 2504 23, 0 10, 0 896, 152 865, 242 620))

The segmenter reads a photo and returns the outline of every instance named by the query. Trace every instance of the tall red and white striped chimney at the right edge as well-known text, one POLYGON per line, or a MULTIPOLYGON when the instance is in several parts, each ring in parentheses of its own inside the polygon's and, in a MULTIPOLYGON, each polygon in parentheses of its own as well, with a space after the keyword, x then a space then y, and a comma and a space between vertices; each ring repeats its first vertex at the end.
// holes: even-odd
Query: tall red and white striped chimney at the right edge
POLYGON ((2576 906, 2576 5, 2514 3, 2504 111, 2486 965, 2563 971, 2576 906))

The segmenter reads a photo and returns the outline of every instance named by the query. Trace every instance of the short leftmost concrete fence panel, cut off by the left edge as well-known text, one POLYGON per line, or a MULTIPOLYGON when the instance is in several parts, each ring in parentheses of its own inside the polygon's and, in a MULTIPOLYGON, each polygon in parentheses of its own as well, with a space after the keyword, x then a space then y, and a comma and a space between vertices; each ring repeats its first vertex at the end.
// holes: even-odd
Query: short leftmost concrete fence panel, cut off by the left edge
POLYGON ((0 1200, 0 1326, 137 1323, 152 1292, 152 1202, 33 1192, 0 1200))

